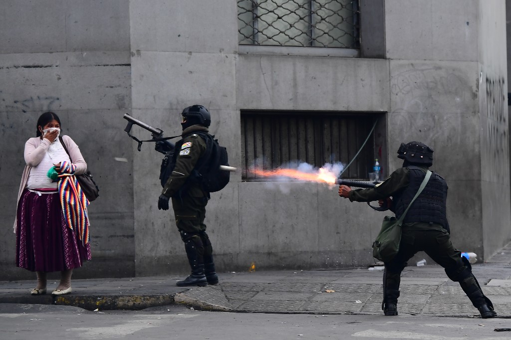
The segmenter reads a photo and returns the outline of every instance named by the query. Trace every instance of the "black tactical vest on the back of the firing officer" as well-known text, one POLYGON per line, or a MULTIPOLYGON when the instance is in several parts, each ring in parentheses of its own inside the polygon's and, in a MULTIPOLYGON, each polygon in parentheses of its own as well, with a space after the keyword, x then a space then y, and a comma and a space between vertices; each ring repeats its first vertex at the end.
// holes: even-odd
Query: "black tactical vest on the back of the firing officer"
MULTIPOLYGON (((419 187, 421 186, 426 173, 417 166, 408 166, 410 171, 410 184, 399 195, 393 197, 396 218, 401 217, 406 207, 413 199, 419 187)), ((432 222, 442 225, 449 231, 449 224, 446 216, 447 183, 436 173, 432 173, 421 192, 421 195, 413 201, 412 206, 406 213, 403 223, 411 222, 432 222)))

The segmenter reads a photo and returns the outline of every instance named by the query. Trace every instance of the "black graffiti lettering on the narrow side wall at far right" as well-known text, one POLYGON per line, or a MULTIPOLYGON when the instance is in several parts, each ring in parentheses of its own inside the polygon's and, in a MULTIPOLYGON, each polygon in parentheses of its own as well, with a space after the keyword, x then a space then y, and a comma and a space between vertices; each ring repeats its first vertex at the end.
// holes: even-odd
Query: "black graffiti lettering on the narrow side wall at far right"
MULTIPOLYGON (((486 101, 486 150, 483 157, 492 160, 488 169, 490 179, 507 178, 509 176, 508 158, 508 126, 506 93, 507 85, 504 78, 485 79, 486 101)), ((483 143, 484 145, 484 143, 483 143)))

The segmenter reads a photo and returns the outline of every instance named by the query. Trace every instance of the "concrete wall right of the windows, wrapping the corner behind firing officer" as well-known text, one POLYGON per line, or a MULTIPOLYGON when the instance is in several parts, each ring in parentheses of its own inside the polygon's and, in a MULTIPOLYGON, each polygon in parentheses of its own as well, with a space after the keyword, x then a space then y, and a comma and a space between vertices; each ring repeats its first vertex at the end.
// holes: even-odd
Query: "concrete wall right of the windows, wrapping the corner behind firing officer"
POLYGON ((387 0, 385 10, 389 150, 412 139, 432 146, 454 245, 489 257, 510 236, 507 109, 487 122, 480 71, 505 82, 504 2, 387 0))

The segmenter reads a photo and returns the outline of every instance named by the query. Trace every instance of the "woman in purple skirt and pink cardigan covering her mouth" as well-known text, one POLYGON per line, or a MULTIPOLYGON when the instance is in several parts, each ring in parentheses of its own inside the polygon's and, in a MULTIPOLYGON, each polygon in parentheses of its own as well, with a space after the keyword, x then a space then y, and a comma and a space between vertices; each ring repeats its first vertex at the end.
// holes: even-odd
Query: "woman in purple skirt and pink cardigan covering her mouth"
POLYGON ((32 295, 47 292, 47 273, 60 272, 53 295, 71 293, 73 269, 90 260, 88 201, 75 175, 87 164, 78 145, 60 135, 60 119, 44 112, 36 137, 25 143, 25 166, 18 192, 16 266, 37 274, 32 295), (63 145, 64 144, 64 145, 63 145))

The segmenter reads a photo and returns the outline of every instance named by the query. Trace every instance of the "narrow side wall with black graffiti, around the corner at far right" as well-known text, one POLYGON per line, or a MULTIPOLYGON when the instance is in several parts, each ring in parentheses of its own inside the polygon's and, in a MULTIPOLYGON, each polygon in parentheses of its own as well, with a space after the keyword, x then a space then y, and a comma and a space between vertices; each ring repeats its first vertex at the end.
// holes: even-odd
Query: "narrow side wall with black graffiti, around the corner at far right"
POLYGON ((479 103, 484 256, 511 234, 504 2, 479 3, 479 103))

